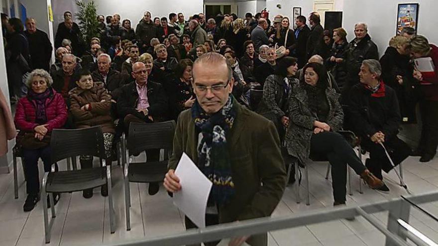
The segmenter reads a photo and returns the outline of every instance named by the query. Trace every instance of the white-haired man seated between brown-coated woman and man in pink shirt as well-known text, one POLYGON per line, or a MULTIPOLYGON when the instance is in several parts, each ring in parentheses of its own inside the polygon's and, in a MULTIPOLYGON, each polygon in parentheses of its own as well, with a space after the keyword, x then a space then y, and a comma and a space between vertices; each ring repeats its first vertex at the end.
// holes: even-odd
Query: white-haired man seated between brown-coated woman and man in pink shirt
POLYGON ((111 69, 111 57, 108 54, 100 54, 98 57, 98 69, 91 74, 94 82, 104 82, 105 87, 115 100, 116 89, 124 84, 120 72, 111 69))

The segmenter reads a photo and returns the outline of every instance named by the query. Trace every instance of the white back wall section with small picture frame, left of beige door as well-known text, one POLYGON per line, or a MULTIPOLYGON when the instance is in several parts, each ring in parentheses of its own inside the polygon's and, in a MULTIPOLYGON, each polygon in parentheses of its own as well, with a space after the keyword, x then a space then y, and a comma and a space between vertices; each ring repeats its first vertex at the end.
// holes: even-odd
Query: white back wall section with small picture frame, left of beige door
POLYGON ((271 21, 277 14, 291 18, 293 7, 301 7, 301 14, 307 17, 313 11, 313 0, 266 0, 266 10, 269 11, 271 21), (281 4, 281 9, 277 8, 277 4, 281 4))

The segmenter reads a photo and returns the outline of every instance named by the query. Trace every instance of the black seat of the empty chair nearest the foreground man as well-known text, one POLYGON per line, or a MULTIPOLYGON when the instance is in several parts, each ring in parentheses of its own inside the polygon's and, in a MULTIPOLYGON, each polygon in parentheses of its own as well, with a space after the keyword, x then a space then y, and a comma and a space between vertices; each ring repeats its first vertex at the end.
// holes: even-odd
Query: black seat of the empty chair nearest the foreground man
POLYGON ((129 182, 161 182, 167 172, 167 160, 163 162, 130 163, 129 182))

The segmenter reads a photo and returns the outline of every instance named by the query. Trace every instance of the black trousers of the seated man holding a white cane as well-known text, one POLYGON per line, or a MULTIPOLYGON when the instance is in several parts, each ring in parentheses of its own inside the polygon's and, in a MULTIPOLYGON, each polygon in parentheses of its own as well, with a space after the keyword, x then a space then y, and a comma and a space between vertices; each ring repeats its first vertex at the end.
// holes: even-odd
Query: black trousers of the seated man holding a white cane
MULTIPOLYGON (((380 144, 373 143, 369 138, 363 138, 360 145, 370 153, 370 158, 366 161, 366 167, 374 176, 382 179, 382 170, 389 172, 393 168, 385 154, 385 150, 380 144)), ((411 148, 397 137, 386 139, 383 145, 394 165, 403 162, 411 153, 411 148)))

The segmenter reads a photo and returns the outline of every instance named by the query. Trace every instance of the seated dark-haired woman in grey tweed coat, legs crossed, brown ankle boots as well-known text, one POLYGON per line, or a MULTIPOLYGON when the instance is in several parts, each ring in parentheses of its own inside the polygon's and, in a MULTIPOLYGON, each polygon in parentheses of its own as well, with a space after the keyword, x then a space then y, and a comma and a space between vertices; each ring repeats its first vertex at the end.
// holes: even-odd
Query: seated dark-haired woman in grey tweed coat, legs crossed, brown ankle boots
POLYGON ((359 160, 348 142, 336 131, 343 123, 338 94, 328 86, 324 65, 309 63, 303 79, 289 96, 289 128, 286 145, 289 155, 306 164, 309 158, 323 157, 331 165, 333 205, 345 204, 347 164, 371 188, 383 186, 359 160))

